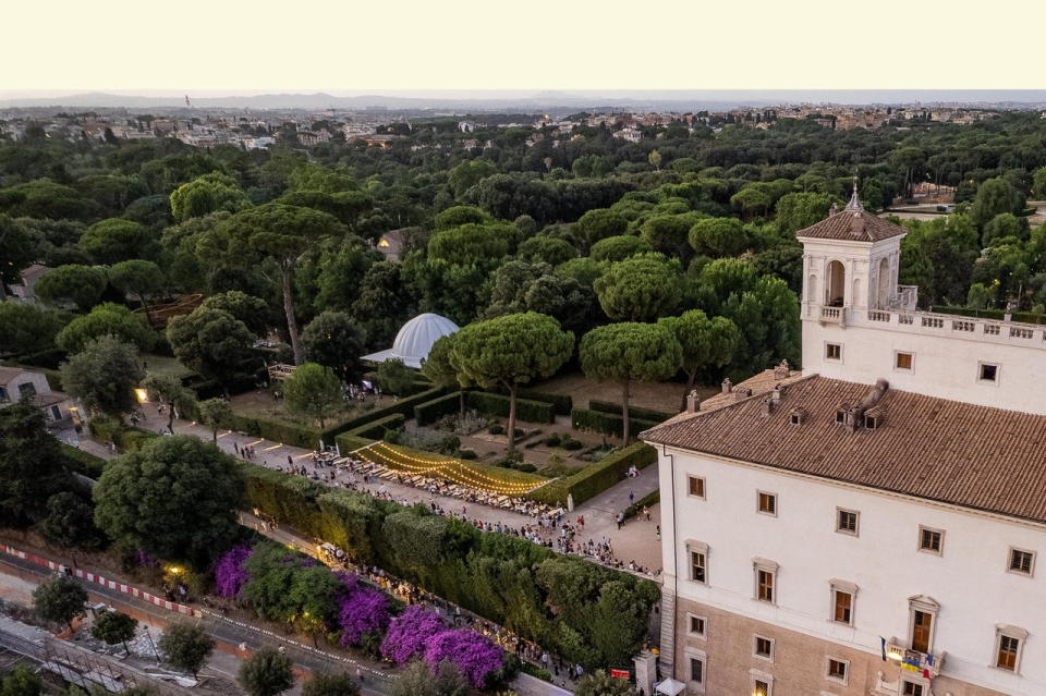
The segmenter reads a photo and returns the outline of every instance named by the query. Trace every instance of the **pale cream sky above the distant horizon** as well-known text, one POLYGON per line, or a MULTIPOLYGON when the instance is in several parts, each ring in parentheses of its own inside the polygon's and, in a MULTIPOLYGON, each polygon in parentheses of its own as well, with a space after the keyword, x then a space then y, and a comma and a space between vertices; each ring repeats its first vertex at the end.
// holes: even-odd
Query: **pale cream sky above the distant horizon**
POLYGON ((1046 87, 1043 0, 4 3, 0 91, 1046 87))

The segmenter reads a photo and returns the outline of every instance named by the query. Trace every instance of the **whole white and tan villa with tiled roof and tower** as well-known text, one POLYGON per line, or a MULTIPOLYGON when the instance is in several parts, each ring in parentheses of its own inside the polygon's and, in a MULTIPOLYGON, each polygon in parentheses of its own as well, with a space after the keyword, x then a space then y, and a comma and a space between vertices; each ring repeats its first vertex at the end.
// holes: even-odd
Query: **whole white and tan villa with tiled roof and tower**
POLYGON ((800 231, 802 373, 641 436, 690 694, 1046 693, 1044 327, 917 309, 904 233, 856 193, 800 231))

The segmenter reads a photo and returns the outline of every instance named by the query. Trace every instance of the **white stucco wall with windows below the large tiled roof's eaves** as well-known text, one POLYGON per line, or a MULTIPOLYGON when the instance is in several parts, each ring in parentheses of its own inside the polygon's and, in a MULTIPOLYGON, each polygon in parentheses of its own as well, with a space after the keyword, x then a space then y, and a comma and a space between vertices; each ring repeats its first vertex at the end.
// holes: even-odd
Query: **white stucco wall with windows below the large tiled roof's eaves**
MULTIPOLYGON (((674 588, 678 600, 878 660, 880 637, 910 642, 909 598, 925 596, 939 605, 932 651, 945 652, 940 676, 1006 694, 1046 693, 1046 602, 1041 600, 1046 566, 1031 576, 1008 571, 1011 548, 1036 554, 1046 550, 1042 525, 672 448, 658 450, 665 587, 674 588), (688 493, 691 476, 704 480, 704 498, 688 493), (757 511, 759 491, 777 496, 776 515, 757 511), (840 508, 858 513, 856 535, 836 530, 840 508), (939 555, 919 550, 921 526, 944 533, 939 555), (688 548, 694 544, 706 549, 705 583, 690 577, 688 548), (774 603, 756 599, 753 559, 778 564, 774 603), (856 586, 852 626, 832 621, 832 581, 856 586), (1019 673, 993 667, 1000 625, 1029 632, 1019 673)), ((888 677, 890 670, 898 673, 896 666, 881 664, 888 677)), ((707 669, 710 673, 715 663, 707 669)), ((818 693, 818 684, 806 686, 788 693, 818 693)), ((831 684, 820 686, 835 691, 831 684)), ((936 688, 933 693, 945 696, 936 688)))

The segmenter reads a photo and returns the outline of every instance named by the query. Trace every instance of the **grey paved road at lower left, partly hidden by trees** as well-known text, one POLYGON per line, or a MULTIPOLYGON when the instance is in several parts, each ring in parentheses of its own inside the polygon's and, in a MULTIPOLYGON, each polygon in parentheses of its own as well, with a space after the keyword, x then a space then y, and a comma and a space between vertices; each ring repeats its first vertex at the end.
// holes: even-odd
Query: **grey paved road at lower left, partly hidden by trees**
MULTIPOLYGON (((0 574, 3 576, 15 576, 22 581, 33 584, 47 578, 50 571, 46 567, 23 561, 9 554, 0 555, 0 574)), ((4 578, 0 577, 0 582, 4 578)), ((177 614, 155 605, 125 595, 114 589, 102 587, 90 583, 84 583, 84 588, 90 596, 92 601, 100 601, 118 608, 124 613, 133 615, 138 621, 150 626, 163 627, 168 625, 177 614)), ((363 685, 364 694, 386 695, 391 693, 392 677, 386 674, 380 666, 365 663, 360 660, 353 660, 348 657, 338 656, 320 650, 303 649, 293 642, 285 640, 280 636, 251 626, 248 624, 238 623, 230 620, 223 620, 220 616, 209 616, 200 620, 205 630, 215 638, 217 649, 223 655, 217 655, 212 661, 215 671, 231 676, 230 661, 224 656, 234 656, 236 660, 242 660, 262 647, 283 646, 287 656, 294 662, 295 670, 302 674, 308 673, 353 673, 356 666, 364 670, 365 682, 363 685), (245 651, 240 650, 239 646, 246 644, 245 651)))

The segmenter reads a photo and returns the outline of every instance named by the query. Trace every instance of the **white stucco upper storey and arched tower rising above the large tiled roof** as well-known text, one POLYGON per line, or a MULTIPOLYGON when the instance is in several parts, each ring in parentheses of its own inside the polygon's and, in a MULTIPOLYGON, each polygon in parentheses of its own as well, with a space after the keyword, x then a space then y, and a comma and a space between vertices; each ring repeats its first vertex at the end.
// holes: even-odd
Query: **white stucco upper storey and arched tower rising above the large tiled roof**
POLYGON ((804 373, 1046 414, 1046 326, 916 310, 916 290, 897 284, 901 239, 800 237, 804 373), (983 365, 995 379, 983 379, 983 365))

